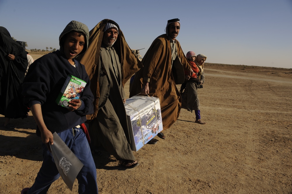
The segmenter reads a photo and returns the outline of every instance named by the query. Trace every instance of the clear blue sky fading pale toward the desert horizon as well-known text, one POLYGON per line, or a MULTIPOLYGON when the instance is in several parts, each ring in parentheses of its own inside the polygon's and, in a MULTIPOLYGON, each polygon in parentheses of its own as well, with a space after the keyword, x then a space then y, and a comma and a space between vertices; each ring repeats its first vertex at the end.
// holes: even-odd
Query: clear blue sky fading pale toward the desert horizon
POLYGON ((91 30, 106 18, 119 24, 130 48, 145 48, 142 57, 167 20, 179 18, 185 54, 204 54, 210 63, 292 68, 292 0, 0 0, 0 26, 27 49, 59 49, 71 20, 91 30))

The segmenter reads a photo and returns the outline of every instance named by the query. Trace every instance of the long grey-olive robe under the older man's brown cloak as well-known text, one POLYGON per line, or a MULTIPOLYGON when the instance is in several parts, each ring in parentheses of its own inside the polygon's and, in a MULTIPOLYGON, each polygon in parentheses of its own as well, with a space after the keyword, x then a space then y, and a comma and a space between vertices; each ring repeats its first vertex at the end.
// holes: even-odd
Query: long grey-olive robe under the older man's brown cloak
POLYGON ((119 57, 112 47, 100 48, 98 64, 100 85, 99 110, 89 123, 94 148, 103 146, 117 160, 136 160, 130 146, 128 123, 123 103, 119 57))

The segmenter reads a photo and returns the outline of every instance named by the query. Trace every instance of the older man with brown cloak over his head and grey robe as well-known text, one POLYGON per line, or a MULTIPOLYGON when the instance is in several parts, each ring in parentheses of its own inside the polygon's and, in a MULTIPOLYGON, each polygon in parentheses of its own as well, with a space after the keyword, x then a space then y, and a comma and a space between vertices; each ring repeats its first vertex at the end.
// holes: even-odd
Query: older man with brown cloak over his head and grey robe
POLYGON ((94 113, 87 117, 93 149, 101 145, 124 167, 137 166, 130 146, 124 84, 142 63, 129 48, 119 25, 108 19, 89 32, 88 52, 79 60, 95 96, 94 113))

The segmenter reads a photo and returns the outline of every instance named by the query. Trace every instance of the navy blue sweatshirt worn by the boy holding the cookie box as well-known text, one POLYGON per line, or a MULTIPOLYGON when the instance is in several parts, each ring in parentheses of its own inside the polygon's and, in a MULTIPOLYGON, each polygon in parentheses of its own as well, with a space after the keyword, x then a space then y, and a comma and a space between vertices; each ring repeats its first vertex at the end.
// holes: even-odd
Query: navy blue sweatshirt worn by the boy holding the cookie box
MULTIPOLYGON (((22 84, 24 104, 41 104, 44 123, 48 130, 61 132, 86 121, 86 115, 93 113, 93 94, 90 80, 84 65, 75 60, 76 68, 57 50, 35 60, 29 67, 22 84), (69 111, 59 106, 55 100, 68 75, 86 81, 80 96, 82 106, 78 110, 69 111)), ((39 135, 39 130, 37 129, 39 135)))

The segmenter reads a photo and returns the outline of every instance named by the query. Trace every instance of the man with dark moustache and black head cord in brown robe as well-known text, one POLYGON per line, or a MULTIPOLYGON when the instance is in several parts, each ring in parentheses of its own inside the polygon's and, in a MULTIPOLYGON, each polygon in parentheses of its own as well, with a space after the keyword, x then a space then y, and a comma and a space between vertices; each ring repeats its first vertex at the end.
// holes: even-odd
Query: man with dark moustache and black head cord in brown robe
MULTIPOLYGON (((139 93, 160 99, 163 129, 168 129, 180 114, 181 98, 175 84, 184 81, 184 70, 192 69, 180 43, 175 39, 180 31, 179 19, 168 20, 166 34, 158 36, 142 59, 142 67, 131 85, 130 97, 139 93)), ((163 133, 158 137, 165 139, 163 133)), ((156 140, 152 140, 154 144, 156 140)))

